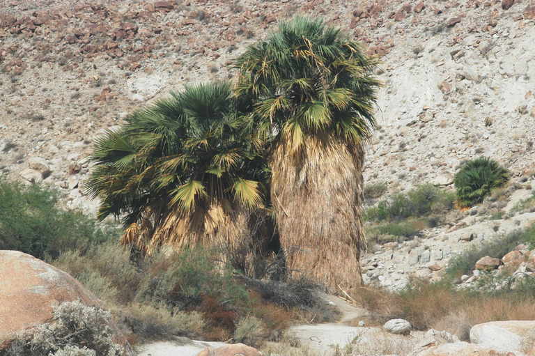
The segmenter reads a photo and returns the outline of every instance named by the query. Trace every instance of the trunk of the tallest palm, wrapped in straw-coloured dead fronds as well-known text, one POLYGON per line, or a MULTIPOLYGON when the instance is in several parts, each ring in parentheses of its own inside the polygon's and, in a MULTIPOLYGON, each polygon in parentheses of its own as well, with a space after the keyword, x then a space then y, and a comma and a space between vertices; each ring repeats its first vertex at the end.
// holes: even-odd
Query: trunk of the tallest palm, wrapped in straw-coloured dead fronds
POLYGON ((272 155, 271 198, 290 277, 330 291, 362 284, 362 146, 307 137, 299 153, 272 155))

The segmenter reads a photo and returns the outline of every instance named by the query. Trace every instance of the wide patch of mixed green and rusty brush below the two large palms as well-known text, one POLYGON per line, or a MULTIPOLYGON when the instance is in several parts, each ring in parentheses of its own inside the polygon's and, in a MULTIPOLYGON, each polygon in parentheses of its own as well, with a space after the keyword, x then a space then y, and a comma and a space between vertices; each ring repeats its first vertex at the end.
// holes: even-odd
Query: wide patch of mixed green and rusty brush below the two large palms
POLYGON ((265 325, 267 332, 256 341, 261 343, 261 336, 279 339, 292 320, 337 318, 316 284, 250 279, 217 256, 208 249, 190 249, 133 263, 129 250, 104 243, 83 253, 65 252, 51 263, 108 302, 133 343, 176 335, 225 341, 247 316, 265 325))

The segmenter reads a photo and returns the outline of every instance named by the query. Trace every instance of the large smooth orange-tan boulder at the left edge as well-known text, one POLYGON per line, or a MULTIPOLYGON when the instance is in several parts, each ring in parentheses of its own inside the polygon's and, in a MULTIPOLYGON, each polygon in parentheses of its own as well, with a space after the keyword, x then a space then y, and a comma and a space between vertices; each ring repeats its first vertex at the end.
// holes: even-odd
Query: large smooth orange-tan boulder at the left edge
POLYGON ((20 251, 0 250, 0 340, 52 318, 61 302, 80 300, 90 306, 98 299, 69 274, 20 251))

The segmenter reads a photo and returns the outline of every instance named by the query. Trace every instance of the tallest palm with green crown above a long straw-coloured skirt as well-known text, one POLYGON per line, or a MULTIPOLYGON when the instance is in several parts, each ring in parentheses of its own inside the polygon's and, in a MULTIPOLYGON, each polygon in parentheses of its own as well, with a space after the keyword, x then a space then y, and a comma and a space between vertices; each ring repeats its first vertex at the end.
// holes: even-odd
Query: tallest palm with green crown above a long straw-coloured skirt
POLYGON ((271 201, 290 274, 360 283, 364 146, 375 126, 377 63, 339 29, 296 17, 247 48, 237 95, 269 143, 271 201))

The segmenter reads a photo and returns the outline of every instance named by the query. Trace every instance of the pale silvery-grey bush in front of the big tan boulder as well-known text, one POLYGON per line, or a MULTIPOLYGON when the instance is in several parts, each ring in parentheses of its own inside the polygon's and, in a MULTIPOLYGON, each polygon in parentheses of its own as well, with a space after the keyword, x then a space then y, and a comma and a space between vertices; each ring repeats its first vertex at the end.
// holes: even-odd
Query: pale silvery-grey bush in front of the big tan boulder
POLYGON ((0 355, 125 355, 125 349, 112 339, 110 323, 109 311, 78 301, 63 302, 54 307, 50 323, 20 334, 0 355))

